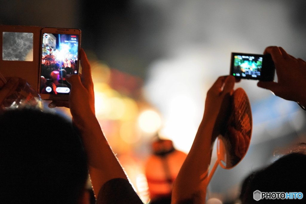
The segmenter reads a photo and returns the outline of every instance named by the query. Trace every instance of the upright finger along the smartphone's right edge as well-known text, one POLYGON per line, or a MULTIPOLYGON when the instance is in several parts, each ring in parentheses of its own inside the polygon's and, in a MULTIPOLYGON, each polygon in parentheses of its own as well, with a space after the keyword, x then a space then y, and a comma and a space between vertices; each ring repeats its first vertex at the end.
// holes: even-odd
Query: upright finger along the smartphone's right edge
POLYGON ((88 62, 86 53, 83 49, 80 49, 80 61, 81 61, 81 66, 82 66, 83 85, 87 90, 92 89, 93 82, 91 78, 90 64, 88 62))

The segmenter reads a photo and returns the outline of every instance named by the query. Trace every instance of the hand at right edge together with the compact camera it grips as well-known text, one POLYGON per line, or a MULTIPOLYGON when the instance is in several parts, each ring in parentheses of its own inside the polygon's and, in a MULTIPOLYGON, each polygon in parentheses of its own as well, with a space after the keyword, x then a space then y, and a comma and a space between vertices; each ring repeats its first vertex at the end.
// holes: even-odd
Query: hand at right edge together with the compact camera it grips
POLYGON ((257 86, 306 107, 306 62, 289 55, 282 47, 267 47, 263 55, 232 53, 230 75, 259 80, 257 86))

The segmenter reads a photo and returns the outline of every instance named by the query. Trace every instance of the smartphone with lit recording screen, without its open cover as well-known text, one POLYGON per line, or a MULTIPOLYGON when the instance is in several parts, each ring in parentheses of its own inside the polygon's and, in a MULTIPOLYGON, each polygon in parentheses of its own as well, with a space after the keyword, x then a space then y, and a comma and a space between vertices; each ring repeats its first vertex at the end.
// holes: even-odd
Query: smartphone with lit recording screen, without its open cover
POLYGON ((80 29, 41 29, 39 95, 42 99, 69 99, 71 86, 65 76, 79 73, 80 45, 80 29))

